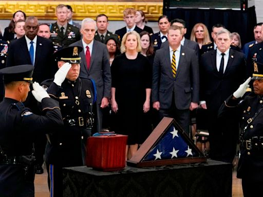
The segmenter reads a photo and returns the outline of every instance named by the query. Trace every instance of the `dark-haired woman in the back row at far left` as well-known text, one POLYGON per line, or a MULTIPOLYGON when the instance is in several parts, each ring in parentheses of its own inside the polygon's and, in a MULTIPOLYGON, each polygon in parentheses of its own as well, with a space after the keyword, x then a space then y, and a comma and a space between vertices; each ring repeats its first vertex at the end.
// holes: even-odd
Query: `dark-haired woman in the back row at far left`
POLYGON ((3 36, 3 39, 5 41, 11 41, 14 38, 16 38, 16 33, 14 32, 14 28, 15 28, 15 22, 18 21, 18 19, 23 19, 25 21, 26 13, 23 12, 22 10, 17 10, 13 14, 13 18, 11 19, 9 26, 5 28, 5 32, 3 36))

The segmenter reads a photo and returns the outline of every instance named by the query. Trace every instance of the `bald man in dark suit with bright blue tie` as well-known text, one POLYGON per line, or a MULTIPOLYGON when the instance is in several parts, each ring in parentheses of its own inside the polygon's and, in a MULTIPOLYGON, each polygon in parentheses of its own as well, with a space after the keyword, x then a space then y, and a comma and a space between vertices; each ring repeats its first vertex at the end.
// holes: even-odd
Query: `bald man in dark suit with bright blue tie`
MULTIPOLYGON (((41 83, 54 75, 55 63, 52 58, 53 44, 47 38, 36 35, 39 30, 39 22, 34 16, 29 16, 25 23, 25 36, 10 43, 7 55, 7 67, 17 65, 33 65, 34 81, 41 83), (32 44, 31 44, 32 42, 32 44), (33 48, 33 52, 30 53, 33 48), (32 56, 30 55, 32 54, 32 56)), ((36 101, 29 92, 25 106, 29 107, 34 113, 39 113, 36 101)), ((35 143, 36 173, 43 173, 43 154, 45 151, 46 136, 37 135, 39 139, 35 143)))

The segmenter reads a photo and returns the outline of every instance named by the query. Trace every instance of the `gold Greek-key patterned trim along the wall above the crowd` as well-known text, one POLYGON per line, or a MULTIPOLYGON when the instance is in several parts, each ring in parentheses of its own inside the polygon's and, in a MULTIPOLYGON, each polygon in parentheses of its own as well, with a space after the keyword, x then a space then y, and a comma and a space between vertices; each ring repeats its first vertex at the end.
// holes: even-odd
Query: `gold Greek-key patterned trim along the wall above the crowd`
POLYGON ((106 14, 109 20, 122 21, 123 10, 128 7, 141 9, 148 21, 157 21, 162 15, 162 2, 54 2, 54 1, 0 1, 0 19, 11 19, 17 10, 24 11, 27 16, 39 19, 55 20, 55 7, 68 4, 74 11, 73 18, 82 20, 90 17, 95 19, 98 14, 106 14))

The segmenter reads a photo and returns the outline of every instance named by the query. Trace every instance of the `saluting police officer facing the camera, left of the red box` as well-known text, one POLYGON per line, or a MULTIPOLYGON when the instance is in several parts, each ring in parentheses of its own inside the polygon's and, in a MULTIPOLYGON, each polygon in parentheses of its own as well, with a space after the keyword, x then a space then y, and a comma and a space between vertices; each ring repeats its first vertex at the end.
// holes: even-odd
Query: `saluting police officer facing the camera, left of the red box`
POLYGON ((85 143, 95 124, 93 106, 96 91, 91 80, 80 78, 82 47, 67 47, 54 53, 60 68, 51 80, 42 83, 49 95, 59 101, 64 126, 50 133, 46 164, 51 196, 62 196, 62 167, 85 165, 85 143))

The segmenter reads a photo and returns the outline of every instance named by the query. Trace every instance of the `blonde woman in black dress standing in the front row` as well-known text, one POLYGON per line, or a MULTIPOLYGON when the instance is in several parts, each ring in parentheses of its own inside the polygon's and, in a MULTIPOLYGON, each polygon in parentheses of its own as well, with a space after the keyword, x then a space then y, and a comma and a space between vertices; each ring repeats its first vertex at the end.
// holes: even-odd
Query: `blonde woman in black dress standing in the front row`
POLYGON ((151 65, 140 51, 140 35, 136 31, 127 32, 122 38, 122 54, 111 64, 111 109, 116 113, 114 130, 128 135, 126 160, 138 149, 145 124, 143 113, 150 108, 151 65))

